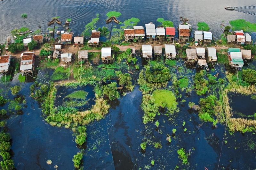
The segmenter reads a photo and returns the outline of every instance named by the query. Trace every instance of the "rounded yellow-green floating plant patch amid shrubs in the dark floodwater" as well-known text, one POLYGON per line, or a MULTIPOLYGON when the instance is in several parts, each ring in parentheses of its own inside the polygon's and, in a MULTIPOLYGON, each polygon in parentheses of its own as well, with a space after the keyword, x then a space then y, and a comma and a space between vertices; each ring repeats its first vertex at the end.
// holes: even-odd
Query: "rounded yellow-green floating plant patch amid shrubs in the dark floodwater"
POLYGON ((152 93, 155 103, 161 107, 173 108, 177 107, 176 97, 169 90, 155 90, 152 93))

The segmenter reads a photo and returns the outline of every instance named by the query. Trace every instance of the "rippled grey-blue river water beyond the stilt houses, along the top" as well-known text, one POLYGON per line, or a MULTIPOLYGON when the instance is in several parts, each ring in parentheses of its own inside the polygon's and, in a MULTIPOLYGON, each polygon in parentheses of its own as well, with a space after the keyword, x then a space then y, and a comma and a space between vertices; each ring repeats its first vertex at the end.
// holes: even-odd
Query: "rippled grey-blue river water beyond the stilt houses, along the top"
MULTIPOLYGON (((228 25, 230 20, 245 19, 252 23, 256 22, 255 17, 255 1, 201 1, 196 0, 188 2, 186 0, 161 0, 161 1, 132 1, 132 0, 99 0, 99 1, 80 1, 80 0, 3 0, 0 2, 0 42, 5 42, 10 31, 14 28, 26 26, 35 31, 38 26, 42 26, 42 31, 47 31, 47 23, 52 17, 60 17, 60 21, 64 23, 67 18, 71 18, 70 29, 75 35, 80 35, 84 31, 84 26, 96 17, 96 13, 100 14, 100 20, 97 26, 106 26, 105 19, 108 11, 119 11, 122 16, 120 21, 136 17, 140 19, 138 25, 145 26, 149 22, 153 22, 156 26, 160 25, 156 21, 157 18, 173 21, 174 27, 178 27, 179 17, 189 18, 192 29, 196 30, 197 22, 205 22, 211 28, 214 38, 219 38, 222 29, 220 23, 228 25), (236 6, 235 11, 224 10, 225 6, 236 6), (28 18, 21 18, 22 13, 27 13, 28 18)), ((62 30, 62 26, 59 30, 62 30)), ((193 32, 192 32, 193 33, 193 32)), ((253 34, 252 38, 256 35, 253 34)))

